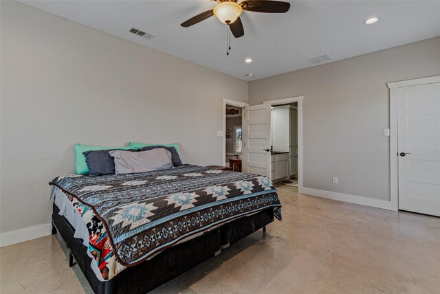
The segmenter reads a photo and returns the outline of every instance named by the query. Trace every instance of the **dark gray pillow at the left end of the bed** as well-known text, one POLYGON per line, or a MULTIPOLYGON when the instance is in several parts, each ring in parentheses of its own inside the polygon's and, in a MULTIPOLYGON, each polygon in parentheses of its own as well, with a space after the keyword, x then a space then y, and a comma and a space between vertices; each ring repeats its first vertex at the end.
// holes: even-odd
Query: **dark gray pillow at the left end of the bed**
MULTIPOLYGON (((113 150, 118 149, 83 152, 83 155, 85 156, 85 163, 87 163, 87 168, 89 168, 89 176, 100 176, 102 174, 115 173, 115 161, 109 154, 109 152, 113 150)), ((137 152, 136 149, 130 149, 128 151, 137 152)))

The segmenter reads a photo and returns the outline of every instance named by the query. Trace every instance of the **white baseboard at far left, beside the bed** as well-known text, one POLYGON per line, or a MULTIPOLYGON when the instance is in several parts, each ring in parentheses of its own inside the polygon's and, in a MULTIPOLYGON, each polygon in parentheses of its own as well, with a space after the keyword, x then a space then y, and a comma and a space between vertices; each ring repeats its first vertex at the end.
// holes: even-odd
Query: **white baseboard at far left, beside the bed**
POLYGON ((50 223, 26 227, 25 229, 17 229, 17 231, 6 231, 0 234, 0 247, 25 242, 50 234, 52 234, 52 225, 50 223))

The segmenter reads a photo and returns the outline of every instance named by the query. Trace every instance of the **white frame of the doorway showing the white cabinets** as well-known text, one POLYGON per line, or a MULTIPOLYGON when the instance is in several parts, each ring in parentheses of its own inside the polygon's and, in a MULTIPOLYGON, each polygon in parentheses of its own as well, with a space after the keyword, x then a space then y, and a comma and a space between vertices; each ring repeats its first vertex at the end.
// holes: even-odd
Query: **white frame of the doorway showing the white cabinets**
MULTIPOLYGON (((303 193, 303 99, 304 96, 264 101, 270 106, 298 103, 298 193, 303 193)), ((272 133, 270 134, 272 137, 272 133)))

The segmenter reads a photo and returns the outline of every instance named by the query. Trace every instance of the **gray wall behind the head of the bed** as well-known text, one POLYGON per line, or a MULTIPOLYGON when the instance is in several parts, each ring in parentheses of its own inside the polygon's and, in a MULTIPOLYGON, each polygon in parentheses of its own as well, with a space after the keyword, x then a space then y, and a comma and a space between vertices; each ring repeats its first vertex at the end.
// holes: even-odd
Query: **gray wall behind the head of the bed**
POLYGON ((222 164, 223 98, 247 102, 248 83, 1 1, 0 231, 50 222, 74 143, 178 142, 184 162, 222 164))

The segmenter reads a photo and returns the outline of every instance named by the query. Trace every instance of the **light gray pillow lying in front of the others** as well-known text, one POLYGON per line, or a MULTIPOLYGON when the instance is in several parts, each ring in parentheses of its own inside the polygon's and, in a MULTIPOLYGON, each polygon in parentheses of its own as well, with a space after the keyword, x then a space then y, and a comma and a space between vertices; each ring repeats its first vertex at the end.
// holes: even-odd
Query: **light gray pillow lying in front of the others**
POLYGON ((173 167, 171 153, 164 148, 138 152, 114 150, 109 153, 115 159, 115 174, 168 170, 173 167))

